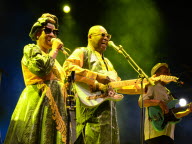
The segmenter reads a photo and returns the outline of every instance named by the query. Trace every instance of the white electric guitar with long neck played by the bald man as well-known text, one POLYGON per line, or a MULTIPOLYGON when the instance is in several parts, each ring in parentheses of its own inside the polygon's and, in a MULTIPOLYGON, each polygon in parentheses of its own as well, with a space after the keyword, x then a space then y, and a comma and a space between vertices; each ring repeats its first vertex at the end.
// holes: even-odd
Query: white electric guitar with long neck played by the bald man
MULTIPOLYGON (((152 78, 152 81, 171 82, 176 81, 178 78, 175 76, 158 76, 152 78)), ((91 92, 89 85, 82 82, 75 82, 74 89, 80 101, 87 107, 95 107, 106 100, 120 101, 123 95, 118 94, 141 94, 140 79, 122 80, 110 82, 107 93, 102 91, 91 92), (119 91, 120 90, 120 91, 119 91), (117 93, 118 92, 118 93, 117 93)), ((144 85, 148 84, 146 79, 143 80, 144 85)))

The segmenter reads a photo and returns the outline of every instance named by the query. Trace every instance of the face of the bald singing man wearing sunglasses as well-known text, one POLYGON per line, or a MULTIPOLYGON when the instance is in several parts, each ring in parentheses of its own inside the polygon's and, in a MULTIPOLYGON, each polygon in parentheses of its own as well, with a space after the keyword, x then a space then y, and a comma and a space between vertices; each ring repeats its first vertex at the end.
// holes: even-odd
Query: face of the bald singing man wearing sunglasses
POLYGON ((107 31, 103 27, 100 27, 90 35, 91 45, 96 51, 103 53, 107 48, 110 38, 111 36, 107 31))

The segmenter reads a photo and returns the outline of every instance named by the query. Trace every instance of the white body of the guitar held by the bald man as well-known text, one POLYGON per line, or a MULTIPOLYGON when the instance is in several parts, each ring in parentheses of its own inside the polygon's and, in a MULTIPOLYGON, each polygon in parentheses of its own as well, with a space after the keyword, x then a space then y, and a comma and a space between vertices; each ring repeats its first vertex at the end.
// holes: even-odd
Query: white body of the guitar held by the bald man
POLYGON ((106 100, 120 101, 123 99, 123 95, 118 94, 117 96, 105 96, 101 91, 91 92, 89 86, 86 83, 75 82, 75 91, 80 101, 87 107, 95 107, 106 100), (96 98, 97 97, 97 98, 96 98))

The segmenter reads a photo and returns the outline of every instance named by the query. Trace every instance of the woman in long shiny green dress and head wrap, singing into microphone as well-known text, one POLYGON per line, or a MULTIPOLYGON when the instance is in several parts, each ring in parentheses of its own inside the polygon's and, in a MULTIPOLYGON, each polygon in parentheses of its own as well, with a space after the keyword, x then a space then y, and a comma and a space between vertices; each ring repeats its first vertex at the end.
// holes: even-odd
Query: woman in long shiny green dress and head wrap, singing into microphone
POLYGON ((63 43, 58 19, 44 13, 31 28, 36 44, 24 47, 21 60, 25 89, 11 117, 5 144, 66 143, 65 72, 56 60, 63 43))

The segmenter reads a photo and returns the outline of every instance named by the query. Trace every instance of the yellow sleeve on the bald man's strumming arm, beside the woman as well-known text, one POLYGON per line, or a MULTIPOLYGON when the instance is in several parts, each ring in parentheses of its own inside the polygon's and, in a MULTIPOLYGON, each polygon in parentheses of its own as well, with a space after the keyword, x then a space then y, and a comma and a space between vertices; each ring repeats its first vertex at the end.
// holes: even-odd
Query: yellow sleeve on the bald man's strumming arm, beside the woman
POLYGON ((63 68, 67 75, 69 75, 72 71, 75 71, 75 81, 94 85, 98 73, 92 72, 88 69, 84 69, 83 62, 84 51, 82 48, 77 48, 65 60, 63 68))

